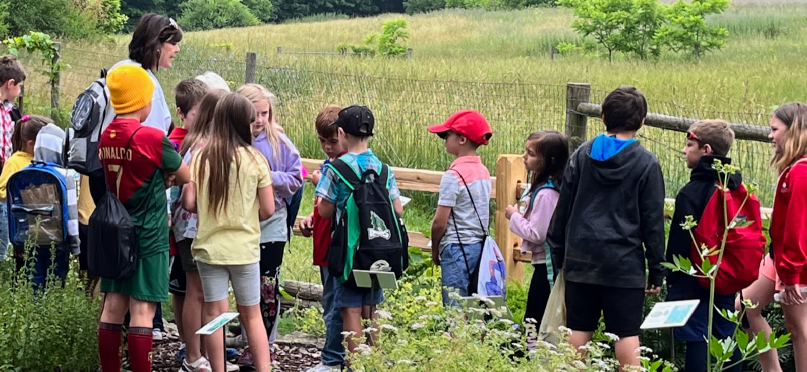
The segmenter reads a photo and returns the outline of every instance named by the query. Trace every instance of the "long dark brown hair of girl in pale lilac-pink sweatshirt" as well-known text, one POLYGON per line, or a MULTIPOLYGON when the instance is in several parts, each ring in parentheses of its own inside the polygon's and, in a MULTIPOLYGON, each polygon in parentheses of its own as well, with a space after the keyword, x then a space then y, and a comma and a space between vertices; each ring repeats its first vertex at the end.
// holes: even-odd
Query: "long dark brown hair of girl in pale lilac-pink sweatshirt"
POLYGON ((569 161, 569 140, 558 130, 538 130, 529 134, 527 142, 535 141, 533 151, 541 155, 541 172, 532 172, 529 181, 529 193, 532 193, 550 179, 555 187, 563 181, 563 172, 566 172, 566 163, 569 161))

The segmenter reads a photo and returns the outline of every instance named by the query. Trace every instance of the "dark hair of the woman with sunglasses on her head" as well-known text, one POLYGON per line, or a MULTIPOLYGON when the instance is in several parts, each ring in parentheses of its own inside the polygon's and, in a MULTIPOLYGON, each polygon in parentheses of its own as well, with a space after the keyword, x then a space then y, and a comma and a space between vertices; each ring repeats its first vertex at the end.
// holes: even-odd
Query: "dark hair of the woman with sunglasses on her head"
POLYGON ((160 69, 160 54, 163 43, 182 41, 182 30, 174 19, 157 13, 140 17, 129 42, 129 59, 147 70, 160 69))

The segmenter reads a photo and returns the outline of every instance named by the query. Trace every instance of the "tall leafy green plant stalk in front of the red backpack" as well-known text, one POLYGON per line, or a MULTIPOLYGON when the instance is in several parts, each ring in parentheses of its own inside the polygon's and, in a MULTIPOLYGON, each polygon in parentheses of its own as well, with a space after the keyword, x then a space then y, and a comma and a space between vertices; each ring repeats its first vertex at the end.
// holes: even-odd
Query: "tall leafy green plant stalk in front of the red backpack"
MULTIPOLYGON (((717 185, 718 192, 728 192, 728 188, 723 185, 728 184, 729 177, 735 172, 738 172, 739 168, 731 164, 723 164, 719 159, 714 160, 712 167, 717 171, 718 179, 721 181, 720 184, 717 185)), ((751 194, 749 193, 749 195, 751 194)), ((720 266, 723 260, 723 253, 725 252, 725 240, 729 234, 730 227, 742 227, 742 225, 740 225, 742 222, 736 222, 739 211, 737 215, 728 216, 726 198, 721 199, 723 200, 723 219, 727 222, 724 226, 725 228, 723 229, 723 236, 720 239, 720 244, 718 246, 701 245, 700 250, 697 250, 700 260, 703 263, 700 266, 693 265, 690 258, 683 256, 673 257, 673 262, 663 262, 664 267, 667 267, 671 271, 683 272, 684 274, 695 278, 708 279, 709 308, 716 309, 725 319, 734 322, 734 324, 738 324, 738 327, 734 331, 734 337, 729 337, 725 340, 718 340, 717 337, 712 335, 714 312, 708 312, 709 318, 707 320, 706 334, 712 335, 706 341, 709 349, 709 354, 706 356, 706 366, 709 372, 712 372, 713 370, 724 370, 730 368, 750 358, 755 358, 760 353, 765 353, 770 349, 779 349, 784 345, 787 345, 788 341, 790 341, 789 334, 777 336, 776 333, 771 333, 766 340, 765 333, 763 332, 757 334, 746 333, 742 330, 742 327, 740 327, 742 323, 742 316, 745 312, 744 310, 726 310, 716 308, 714 305, 715 279, 717 278, 717 273, 720 271, 720 266), (714 264, 709 259, 713 256, 717 256, 717 261, 714 264), (734 353, 737 350, 742 355, 741 360, 731 361, 730 359, 734 356, 734 353), (714 361, 712 359, 714 359, 714 361)), ((747 197, 746 200, 742 201, 743 205, 746 203, 746 201, 747 197)), ((742 208, 739 210, 742 210, 742 208)), ((745 221, 744 223, 749 225, 751 222, 752 221, 745 221)), ((696 242, 695 236, 692 233, 692 229, 694 229, 696 225, 697 222, 692 219, 692 216, 687 216, 685 221, 681 224, 683 229, 689 231, 689 234, 692 237, 692 242, 696 242)), ((757 306, 757 304, 752 304, 750 300, 743 301, 746 308, 755 308, 757 306)))

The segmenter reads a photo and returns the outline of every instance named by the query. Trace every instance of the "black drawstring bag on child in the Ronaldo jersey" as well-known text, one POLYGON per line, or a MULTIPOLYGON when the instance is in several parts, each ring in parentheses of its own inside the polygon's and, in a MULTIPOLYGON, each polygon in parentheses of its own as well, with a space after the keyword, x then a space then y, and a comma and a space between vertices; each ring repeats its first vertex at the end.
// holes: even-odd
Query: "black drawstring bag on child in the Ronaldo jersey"
MULTIPOLYGON (((132 133, 132 137, 126 143, 124 154, 128 153, 132 138, 135 138, 135 134, 141 129, 143 128, 138 128, 132 133)), ((119 172, 123 172, 123 169, 119 172)), ((107 185, 107 193, 90 215, 87 264, 94 275, 106 279, 125 280, 135 273, 138 242, 132 217, 118 200, 118 196, 112 192, 113 189, 107 185)))

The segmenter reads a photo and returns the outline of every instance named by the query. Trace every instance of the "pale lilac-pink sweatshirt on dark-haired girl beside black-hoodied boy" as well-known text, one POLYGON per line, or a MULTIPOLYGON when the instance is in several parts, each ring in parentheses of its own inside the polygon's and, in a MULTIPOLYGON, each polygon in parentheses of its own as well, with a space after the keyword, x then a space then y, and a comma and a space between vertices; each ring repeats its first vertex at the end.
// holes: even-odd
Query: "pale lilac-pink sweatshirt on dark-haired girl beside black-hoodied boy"
POLYGON ((533 205, 527 216, 516 213, 510 217, 510 229, 521 237, 521 252, 531 252, 533 264, 546 262, 546 230, 549 229, 559 196, 554 188, 542 188, 535 195, 535 200, 527 200, 533 205))

